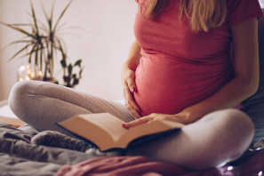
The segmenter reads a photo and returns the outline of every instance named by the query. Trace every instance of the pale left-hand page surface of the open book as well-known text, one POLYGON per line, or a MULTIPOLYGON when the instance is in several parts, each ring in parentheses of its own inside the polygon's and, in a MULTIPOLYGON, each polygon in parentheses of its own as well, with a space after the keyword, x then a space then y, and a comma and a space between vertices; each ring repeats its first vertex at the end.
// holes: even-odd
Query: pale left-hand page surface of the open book
POLYGON ((85 120, 89 120, 92 124, 96 124, 102 130, 108 132, 114 141, 118 140, 124 132, 128 130, 122 127, 124 121, 120 120, 116 116, 112 116, 108 113, 92 114, 92 115, 79 115, 85 120))

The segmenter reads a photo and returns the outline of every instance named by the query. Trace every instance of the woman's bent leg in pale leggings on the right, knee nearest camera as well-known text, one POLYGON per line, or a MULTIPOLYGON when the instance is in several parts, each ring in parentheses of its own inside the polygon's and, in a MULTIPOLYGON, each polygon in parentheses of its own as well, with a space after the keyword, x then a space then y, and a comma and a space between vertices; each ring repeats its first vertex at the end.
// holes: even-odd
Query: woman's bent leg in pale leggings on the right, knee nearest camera
POLYGON ((251 144, 253 134, 253 124, 247 115, 226 109, 204 116, 163 139, 131 148, 127 155, 147 156, 192 170, 207 169, 241 156, 251 144))

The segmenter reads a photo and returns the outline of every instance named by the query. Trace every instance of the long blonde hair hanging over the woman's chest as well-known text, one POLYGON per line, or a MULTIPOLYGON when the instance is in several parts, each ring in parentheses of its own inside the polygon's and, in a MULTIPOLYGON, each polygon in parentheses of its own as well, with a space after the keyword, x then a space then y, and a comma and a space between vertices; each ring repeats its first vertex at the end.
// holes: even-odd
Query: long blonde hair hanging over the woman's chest
MULTIPOLYGON (((143 17, 152 20, 164 10, 168 0, 148 0, 143 17)), ((192 31, 198 32, 220 27, 227 15, 227 0, 180 0, 180 19, 190 19, 192 31)))

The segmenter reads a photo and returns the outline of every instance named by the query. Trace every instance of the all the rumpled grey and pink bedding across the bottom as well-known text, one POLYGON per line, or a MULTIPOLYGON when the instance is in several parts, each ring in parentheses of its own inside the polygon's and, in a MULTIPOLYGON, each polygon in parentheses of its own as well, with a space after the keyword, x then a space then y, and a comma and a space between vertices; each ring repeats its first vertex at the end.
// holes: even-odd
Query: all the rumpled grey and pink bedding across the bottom
POLYGON ((227 164, 221 168, 191 172, 177 165, 151 161, 144 156, 100 157, 92 152, 84 153, 65 148, 34 145, 30 142, 34 134, 34 132, 21 131, 0 122, 1 176, 49 176, 55 174, 70 176, 257 176, 264 172, 264 150, 260 150, 244 164, 239 164, 236 167, 230 167, 230 164, 227 164))

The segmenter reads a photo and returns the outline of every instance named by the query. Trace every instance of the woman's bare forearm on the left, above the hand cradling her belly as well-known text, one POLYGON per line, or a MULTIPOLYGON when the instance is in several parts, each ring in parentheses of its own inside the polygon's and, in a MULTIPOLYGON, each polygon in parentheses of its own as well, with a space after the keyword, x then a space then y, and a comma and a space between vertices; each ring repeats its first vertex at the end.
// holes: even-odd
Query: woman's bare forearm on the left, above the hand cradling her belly
POLYGON ((140 64, 141 58, 141 47, 137 41, 133 42, 130 51, 127 56, 127 60, 124 62, 124 67, 130 68, 132 70, 136 70, 138 65, 140 64))

